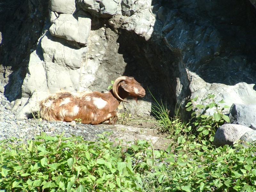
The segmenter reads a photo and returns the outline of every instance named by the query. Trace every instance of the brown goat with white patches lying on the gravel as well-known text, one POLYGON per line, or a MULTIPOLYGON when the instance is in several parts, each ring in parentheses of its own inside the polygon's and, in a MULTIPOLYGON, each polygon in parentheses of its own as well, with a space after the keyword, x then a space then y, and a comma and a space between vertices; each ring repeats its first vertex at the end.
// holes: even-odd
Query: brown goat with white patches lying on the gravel
POLYGON ((70 122, 81 119, 83 124, 105 122, 115 125, 118 118, 116 108, 121 101, 127 102, 124 99, 128 96, 137 101, 138 97, 144 97, 145 94, 143 87, 133 77, 121 76, 108 92, 57 92, 50 95, 40 101, 40 115, 48 121, 70 122))

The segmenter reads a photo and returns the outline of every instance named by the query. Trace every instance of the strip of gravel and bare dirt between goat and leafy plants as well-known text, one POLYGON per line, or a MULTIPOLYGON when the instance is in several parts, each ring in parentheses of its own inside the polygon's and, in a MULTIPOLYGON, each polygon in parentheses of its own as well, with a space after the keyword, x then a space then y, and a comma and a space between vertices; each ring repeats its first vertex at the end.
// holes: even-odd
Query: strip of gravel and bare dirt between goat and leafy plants
POLYGON ((14 102, 9 102, 0 92, 0 140, 15 137, 24 141, 33 139, 43 131, 47 135, 55 136, 64 132, 65 137, 83 136, 84 140, 97 141, 98 134, 112 132, 110 141, 118 138, 122 142, 129 143, 135 140, 148 140, 153 143, 155 149, 165 149, 172 140, 152 129, 154 124, 150 121, 131 121, 130 124, 113 125, 87 125, 72 122, 48 122, 45 120, 17 119, 13 112, 14 102))

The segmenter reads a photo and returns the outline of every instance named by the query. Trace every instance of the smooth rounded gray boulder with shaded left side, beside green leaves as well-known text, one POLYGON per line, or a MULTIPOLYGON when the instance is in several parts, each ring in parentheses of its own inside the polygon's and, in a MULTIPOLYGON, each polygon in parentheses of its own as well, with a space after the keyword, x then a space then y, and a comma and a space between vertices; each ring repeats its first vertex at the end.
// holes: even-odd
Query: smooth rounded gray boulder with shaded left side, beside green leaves
POLYGON ((236 140, 239 140, 244 133, 252 131, 251 128, 237 125, 237 124, 224 124, 218 128, 215 133, 213 144, 216 147, 224 145, 233 145, 236 140))

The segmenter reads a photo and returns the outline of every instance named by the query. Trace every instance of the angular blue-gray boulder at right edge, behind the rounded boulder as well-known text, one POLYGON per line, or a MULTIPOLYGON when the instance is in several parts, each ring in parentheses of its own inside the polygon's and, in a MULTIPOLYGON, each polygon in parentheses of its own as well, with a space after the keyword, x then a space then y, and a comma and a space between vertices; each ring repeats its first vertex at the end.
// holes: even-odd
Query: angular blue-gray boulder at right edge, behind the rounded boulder
POLYGON ((234 103, 230 108, 230 123, 244 125, 253 129, 256 123, 256 105, 234 103))

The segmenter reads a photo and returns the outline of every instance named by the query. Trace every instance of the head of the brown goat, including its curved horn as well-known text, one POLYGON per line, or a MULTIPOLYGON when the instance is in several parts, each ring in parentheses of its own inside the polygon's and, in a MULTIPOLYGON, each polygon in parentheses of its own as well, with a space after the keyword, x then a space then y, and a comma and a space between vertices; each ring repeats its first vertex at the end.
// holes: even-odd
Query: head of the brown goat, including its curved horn
POLYGON ((126 103, 128 103, 128 101, 123 100, 118 95, 117 90, 119 87, 127 92, 128 96, 131 96, 133 98, 144 97, 146 94, 145 89, 143 89, 143 87, 133 77, 118 77, 113 84, 113 93, 119 101, 124 101, 126 103))

